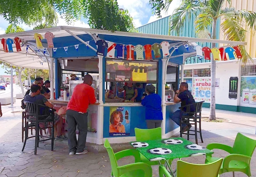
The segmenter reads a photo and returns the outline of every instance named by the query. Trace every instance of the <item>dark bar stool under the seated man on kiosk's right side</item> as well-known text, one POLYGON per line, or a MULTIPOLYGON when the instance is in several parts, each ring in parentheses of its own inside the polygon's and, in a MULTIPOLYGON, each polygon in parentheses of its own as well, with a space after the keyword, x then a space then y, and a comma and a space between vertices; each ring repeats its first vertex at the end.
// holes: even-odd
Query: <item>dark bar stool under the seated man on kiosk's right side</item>
POLYGON ((189 124, 190 122, 191 125, 195 125, 195 130, 188 130, 187 133, 183 133, 182 132, 182 126, 180 126, 180 137, 182 137, 182 134, 188 135, 188 140, 189 140, 189 135, 195 135, 196 138, 196 144, 198 144, 197 141, 197 133, 200 133, 200 138, 201 141, 203 142, 203 137, 202 137, 202 131, 201 131, 201 111, 202 111, 202 106, 203 106, 203 102, 198 102, 198 103, 194 103, 194 104, 190 104, 190 105, 185 105, 185 106, 181 106, 179 107, 180 111, 180 125, 182 124, 189 124), (191 112, 190 108, 191 106, 195 107, 195 112, 191 112), (182 115, 182 113, 185 113, 185 115, 182 115), (197 131, 197 123, 199 123, 199 131, 197 131), (195 132, 194 134, 191 134, 190 131, 195 132))

